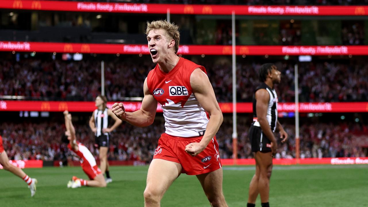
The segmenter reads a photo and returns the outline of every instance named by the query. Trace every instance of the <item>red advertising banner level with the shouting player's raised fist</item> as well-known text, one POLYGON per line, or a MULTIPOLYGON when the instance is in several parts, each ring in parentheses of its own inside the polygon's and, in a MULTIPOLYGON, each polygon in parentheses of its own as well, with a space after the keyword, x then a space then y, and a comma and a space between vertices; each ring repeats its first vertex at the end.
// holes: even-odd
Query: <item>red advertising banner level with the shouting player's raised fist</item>
MULTIPOLYGON (((108 102, 111 108, 115 102, 108 102)), ((141 108, 141 102, 124 101, 125 110, 132 112, 141 108)), ((233 103, 219 103, 223 113, 233 112, 233 103)), ((0 111, 48 111, 92 112, 93 101, 0 101, 0 111)), ((279 103, 279 112, 295 112, 295 103, 279 103)), ((157 112, 162 112, 158 103, 157 112)), ((238 113, 252 113, 252 103, 237 103, 238 113)), ((301 113, 322 112, 368 112, 368 102, 299 103, 301 113)))

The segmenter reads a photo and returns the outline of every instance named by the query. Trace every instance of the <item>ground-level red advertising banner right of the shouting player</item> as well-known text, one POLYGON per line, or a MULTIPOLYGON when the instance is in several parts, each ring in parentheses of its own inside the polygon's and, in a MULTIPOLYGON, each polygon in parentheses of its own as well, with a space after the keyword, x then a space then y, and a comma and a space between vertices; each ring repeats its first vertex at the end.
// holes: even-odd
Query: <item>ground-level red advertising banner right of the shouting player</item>
MULTIPOLYGON (((304 159, 273 159, 274 165, 354 165, 368 164, 368 157, 342 158, 304 158, 304 159)), ((255 165, 255 159, 221 159, 222 165, 255 165)))

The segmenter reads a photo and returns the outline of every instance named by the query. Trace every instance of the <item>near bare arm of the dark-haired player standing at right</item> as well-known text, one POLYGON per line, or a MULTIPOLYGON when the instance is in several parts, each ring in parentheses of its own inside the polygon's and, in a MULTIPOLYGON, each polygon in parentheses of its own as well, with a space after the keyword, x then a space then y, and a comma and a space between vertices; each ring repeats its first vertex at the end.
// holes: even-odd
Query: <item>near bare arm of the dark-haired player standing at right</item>
POLYGON ((276 138, 273 135, 271 127, 267 121, 267 108, 268 102, 270 101, 270 94, 265 89, 259 89, 255 93, 256 99, 256 111, 257 111, 257 118, 258 122, 261 125, 261 129, 263 133, 269 138, 269 140, 276 144, 276 138))

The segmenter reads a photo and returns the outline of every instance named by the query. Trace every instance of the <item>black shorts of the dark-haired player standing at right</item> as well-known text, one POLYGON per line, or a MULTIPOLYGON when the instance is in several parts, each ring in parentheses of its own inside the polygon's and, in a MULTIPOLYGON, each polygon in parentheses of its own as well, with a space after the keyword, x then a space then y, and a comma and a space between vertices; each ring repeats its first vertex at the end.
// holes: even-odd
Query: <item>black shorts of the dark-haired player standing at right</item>
POLYGON ((248 131, 249 141, 252 145, 252 152, 270 152, 271 141, 263 133, 261 127, 251 126, 248 131))

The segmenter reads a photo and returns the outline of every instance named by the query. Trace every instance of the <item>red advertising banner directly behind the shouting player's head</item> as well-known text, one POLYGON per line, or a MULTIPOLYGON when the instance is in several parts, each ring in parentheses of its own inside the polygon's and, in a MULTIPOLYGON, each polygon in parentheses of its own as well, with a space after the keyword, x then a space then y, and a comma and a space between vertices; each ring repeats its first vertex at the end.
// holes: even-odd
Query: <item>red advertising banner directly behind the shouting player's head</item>
MULTIPOLYGON (((149 54, 147 45, 57 42, 4 42, 0 51, 149 54)), ((180 45, 182 55, 231 55, 231 46, 180 45)), ((236 46, 237 55, 368 55, 368 46, 236 46)))

